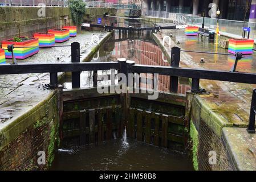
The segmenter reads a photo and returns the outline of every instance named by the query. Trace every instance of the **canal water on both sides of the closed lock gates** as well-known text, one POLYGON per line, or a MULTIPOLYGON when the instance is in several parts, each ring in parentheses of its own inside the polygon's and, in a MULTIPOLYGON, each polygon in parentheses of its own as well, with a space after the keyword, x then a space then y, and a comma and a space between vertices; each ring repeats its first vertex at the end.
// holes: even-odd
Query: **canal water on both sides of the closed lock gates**
MULTIPOLYGON (((128 36, 113 34, 96 53, 91 61, 117 61, 119 58, 133 60, 136 64, 147 65, 169 65, 163 61, 162 52, 159 46, 153 41, 150 32, 142 34, 129 34, 128 36)), ((98 75, 110 73, 98 71, 98 75)), ((151 77, 151 75, 145 75, 151 77)), ((92 72, 82 72, 81 86, 90 87, 93 85, 92 72)), ((98 85, 109 84, 98 82, 98 85)), ((71 88, 71 78, 66 77, 63 82, 64 88, 71 88)), ((147 86, 147 85, 144 85, 147 86)), ((169 77, 159 77, 159 90, 169 89, 169 77)), ((182 80, 178 92, 185 93, 190 89, 187 80, 182 80)), ((193 170, 192 163, 187 155, 180 155, 160 148, 129 140, 128 145, 123 139, 115 139, 90 146, 59 149, 55 156, 51 170, 193 170)))

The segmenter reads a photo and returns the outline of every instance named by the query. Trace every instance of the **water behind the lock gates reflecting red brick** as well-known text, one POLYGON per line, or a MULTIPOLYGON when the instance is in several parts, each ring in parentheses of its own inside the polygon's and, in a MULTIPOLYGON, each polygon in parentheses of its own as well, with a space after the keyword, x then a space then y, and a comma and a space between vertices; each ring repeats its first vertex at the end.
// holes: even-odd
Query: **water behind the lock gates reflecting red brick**
MULTIPOLYGON (((129 34, 115 31, 112 38, 100 47, 91 61, 111 62, 123 57, 127 60, 135 61, 135 64, 170 66, 170 63, 164 61, 166 57, 162 56, 162 51, 153 41, 150 31, 130 32, 129 34)), ((103 75, 104 73, 110 74, 110 71, 98 71, 99 75, 103 75)), ((80 80, 82 87, 93 86, 92 74, 92 71, 82 72, 80 80)), ((141 78, 153 78, 152 74, 141 73, 140 76, 141 78)), ((117 83, 117 80, 115 82, 117 83)), ((109 85, 110 81, 98 82, 98 85, 104 84, 109 85)), ((152 88, 152 84, 141 83, 140 86, 141 88, 152 88)), ((70 78, 64 83, 64 88, 71 88, 70 78)), ((159 75, 159 90, 169 92, 169 89, 170 77, 159 75)), ((178 92, 185 94, 186 90, 189 89, 190 87, 188 85, 179 85, 178 92)))

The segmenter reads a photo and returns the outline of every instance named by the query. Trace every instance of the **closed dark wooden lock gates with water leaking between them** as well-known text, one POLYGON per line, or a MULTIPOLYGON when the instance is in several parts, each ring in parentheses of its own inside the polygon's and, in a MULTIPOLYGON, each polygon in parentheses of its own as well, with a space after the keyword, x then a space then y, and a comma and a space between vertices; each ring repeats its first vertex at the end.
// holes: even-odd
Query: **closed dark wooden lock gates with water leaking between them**
MULTIPOLYGON (((63 147, 127 137, 186 154, 189 122, 184 94, 99 94, 97 88, 64 90, 60 138, 63 147)), ((139 92, 138 92, 139 93, 139 92)))

